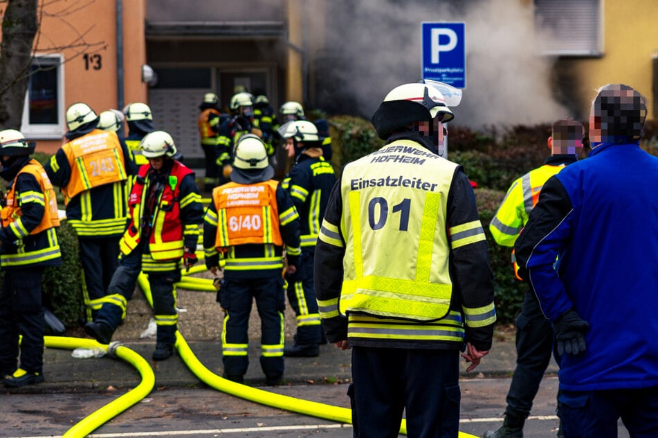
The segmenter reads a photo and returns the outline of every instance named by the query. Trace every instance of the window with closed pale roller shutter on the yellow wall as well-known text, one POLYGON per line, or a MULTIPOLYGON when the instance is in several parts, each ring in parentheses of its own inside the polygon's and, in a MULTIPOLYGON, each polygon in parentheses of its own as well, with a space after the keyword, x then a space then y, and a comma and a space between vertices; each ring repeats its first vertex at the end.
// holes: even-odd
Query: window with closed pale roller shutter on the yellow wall
POLYGON ((602 0, 534 0, 545 55, 603 55, 602 0))

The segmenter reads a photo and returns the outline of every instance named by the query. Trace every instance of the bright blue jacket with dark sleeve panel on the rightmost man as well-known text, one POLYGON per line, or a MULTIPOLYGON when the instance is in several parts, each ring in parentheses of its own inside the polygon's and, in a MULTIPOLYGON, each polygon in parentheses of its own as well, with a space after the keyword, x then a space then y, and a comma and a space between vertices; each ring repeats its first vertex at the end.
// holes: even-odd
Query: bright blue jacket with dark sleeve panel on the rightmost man
POLYGON ((658 158, 602 144, 547 181, 516 241, 545 316, 574 308, 590 323, 587 351, 560 359, 560 388, 658 386, 657 193, 658 158))

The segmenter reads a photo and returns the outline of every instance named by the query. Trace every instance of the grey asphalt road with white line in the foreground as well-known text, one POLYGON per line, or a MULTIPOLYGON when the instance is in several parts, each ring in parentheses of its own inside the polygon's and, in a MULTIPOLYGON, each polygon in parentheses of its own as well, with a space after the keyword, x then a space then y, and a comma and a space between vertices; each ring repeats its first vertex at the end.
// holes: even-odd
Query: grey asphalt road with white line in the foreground
MULTIPOLYGON (((508 378, 461 381, 461 431, 477 437, 498 428, 508 378)), ((526 423, 526 437, 555 437, 556 377, 546 377, 526 423)), ((270 388, 272 389, 272 388, 270 388)), ((300 399, 349 406, 345 384, 289 385, 272 389, 300 399)), ((125 392, 0 395, 1 437, 53 437, 125 392)), ((146 399, 95 430, 91 437, 351 437, 349 425, 261 406, 201 385, 154 388, 146 399)), ((628 437, 623 426, 619 437, 628 437)))

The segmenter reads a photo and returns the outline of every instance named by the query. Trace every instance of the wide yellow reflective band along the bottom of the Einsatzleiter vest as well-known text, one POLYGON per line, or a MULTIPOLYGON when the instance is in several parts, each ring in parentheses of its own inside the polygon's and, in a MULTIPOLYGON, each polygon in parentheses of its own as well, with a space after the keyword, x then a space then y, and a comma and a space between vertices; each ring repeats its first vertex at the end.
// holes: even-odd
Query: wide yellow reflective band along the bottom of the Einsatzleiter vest
POLYGON ((340 311, 431 321, 448 313, 452 289, 452 285, 369 275, 343 281, 340 311))

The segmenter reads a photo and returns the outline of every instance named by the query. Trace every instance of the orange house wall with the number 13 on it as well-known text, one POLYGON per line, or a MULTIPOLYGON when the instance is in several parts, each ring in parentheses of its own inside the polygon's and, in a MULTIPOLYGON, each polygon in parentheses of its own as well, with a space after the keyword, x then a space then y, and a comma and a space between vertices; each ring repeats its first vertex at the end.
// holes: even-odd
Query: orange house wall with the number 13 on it
MULTIPOLYGON (((70 1, 39 0, 39 5, 43 3, 48 5, 37 53, 64 55, 64 108, 75 102, 89 104, 96 113, 117 108, 116 1, 84 2, 80 9, 76 9, 79 3, 70 1)), ((141 82, 141 66, 146 62, 146 0, 122 0, 122 8, 124 104, 146 102, 147 86, 141 82)), ((61 146, 57 140, 39 140, 38 144, 38 150, 46 153, 61 146)))

